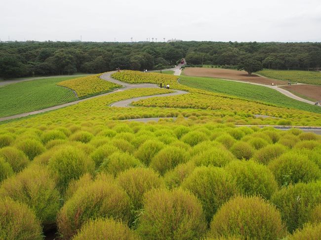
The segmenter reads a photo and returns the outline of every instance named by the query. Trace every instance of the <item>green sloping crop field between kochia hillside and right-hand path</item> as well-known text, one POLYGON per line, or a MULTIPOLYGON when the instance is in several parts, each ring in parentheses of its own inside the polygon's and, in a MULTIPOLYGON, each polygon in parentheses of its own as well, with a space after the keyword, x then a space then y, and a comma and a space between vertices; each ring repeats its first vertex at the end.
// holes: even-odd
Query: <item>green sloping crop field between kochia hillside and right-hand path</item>
POLYGON ((278 106, 321 113, 321 107, 288 98, 274 89, 263 86, 226 81, 210 77, 188 76, 181 76, 180 83, 210 92, 228 94, 244 99, 272 103, 278 106))

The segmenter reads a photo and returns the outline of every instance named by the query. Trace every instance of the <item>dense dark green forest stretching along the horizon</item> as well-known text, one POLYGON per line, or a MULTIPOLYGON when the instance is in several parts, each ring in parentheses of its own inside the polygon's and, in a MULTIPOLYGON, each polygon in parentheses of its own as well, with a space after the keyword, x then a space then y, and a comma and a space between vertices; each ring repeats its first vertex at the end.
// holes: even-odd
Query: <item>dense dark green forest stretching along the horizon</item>
POLYGON ((321 43, 0 42, 0 77, 164 69, 181 58, 192 65, 233 67, 251 58, 268 69, 318 69, 321 43))

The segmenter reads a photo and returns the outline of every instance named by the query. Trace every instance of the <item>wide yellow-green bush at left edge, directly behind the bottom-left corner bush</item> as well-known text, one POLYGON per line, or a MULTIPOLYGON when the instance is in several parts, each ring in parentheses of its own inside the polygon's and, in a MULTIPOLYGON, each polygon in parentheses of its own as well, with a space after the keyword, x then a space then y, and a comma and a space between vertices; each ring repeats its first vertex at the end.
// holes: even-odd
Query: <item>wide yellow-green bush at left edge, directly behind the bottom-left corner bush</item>
POLYGON ((30 206, 45 229, 55 225, 60 194, 46 168, 34 165, 7 178, 1 185, 0 197, 10 197, 30 206))

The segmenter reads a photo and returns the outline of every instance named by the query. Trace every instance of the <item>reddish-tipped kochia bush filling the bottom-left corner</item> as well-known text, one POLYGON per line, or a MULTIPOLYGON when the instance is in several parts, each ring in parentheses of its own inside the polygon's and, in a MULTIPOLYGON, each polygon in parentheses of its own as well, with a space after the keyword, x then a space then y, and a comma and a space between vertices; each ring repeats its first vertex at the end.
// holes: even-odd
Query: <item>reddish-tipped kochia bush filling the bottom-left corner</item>
POLYGON ((1 240, 42 240, 40 222, 25 204, 10 198, 0 199, 1 240))

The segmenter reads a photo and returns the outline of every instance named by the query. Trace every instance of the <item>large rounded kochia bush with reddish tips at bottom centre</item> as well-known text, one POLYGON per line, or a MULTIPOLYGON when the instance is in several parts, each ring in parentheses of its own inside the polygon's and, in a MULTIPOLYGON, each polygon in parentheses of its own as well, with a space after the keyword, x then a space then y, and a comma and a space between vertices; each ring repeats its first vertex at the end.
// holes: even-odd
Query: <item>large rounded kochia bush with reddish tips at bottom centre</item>
POLYGON ((191 193, 155 189, 145 194, 137 228, 143 239, 201 239, 205 231, 201 203, 191 193))

